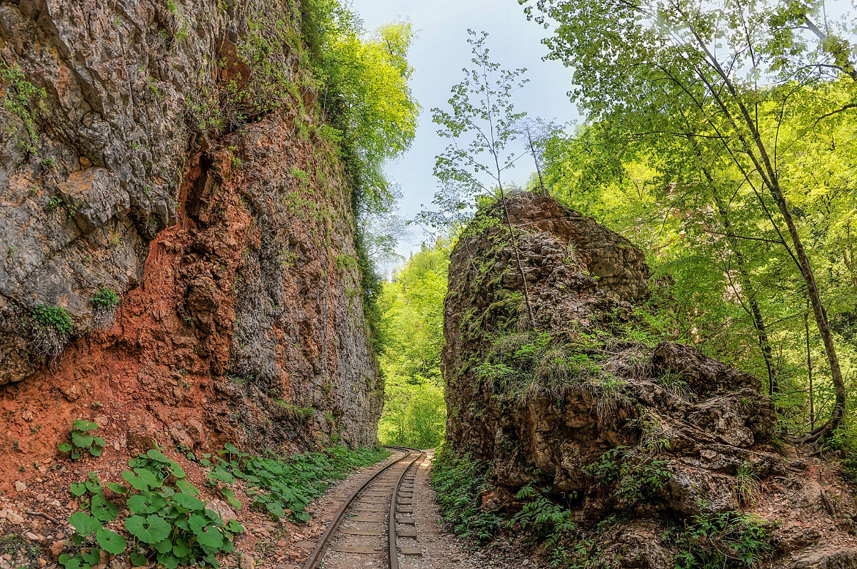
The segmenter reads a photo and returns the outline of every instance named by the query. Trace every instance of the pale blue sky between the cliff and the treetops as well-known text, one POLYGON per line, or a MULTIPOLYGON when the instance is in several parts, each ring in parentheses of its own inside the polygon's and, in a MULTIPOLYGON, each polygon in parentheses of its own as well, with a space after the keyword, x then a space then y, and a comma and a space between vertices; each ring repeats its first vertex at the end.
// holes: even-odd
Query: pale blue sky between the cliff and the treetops
MULTIPOLYGON (((571 70, 560 62, 542 61, 547 48, 541 40, 547 32, 527 21, 517 0, 352 0, 351 7, 368 30, 398 20, 411 21, 417 30, 409 61, 415 68, 411 88, 423 112, 411 149, 386 168, 388 177, 401 185, 404 198, 400 208, 407 219, 431 209, 437 191, 432 175, 434 157, 446 148, 448 140, 437 135, 431 109, 448 108, 450 88, 462 80, 461 69, 470 67, 468 28, 489 33, 488 48, 495 62, 504 68, 528 69, 525 76, 530 83, 514 97, 518 111, 557 122, 578 119, 566 95, 572 87, 571 70)), ((523 184, 533 169, 524 163, 511 171, 510 178, 523 184)), ((423 240, 428 240, 428 235, 415 229, 409 238, 400 240, 399 254, 407 258, 423 240)))

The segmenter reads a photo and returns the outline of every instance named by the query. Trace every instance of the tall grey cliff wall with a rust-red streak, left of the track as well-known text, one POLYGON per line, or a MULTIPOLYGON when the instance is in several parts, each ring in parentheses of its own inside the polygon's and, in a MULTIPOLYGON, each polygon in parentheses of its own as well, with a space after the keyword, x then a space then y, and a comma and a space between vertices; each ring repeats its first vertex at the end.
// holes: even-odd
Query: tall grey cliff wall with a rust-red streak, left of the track
POLYGON ((290 6, 0 4, 3 483, 76 418, 117 453, 375 442, 351 192, 290 6))

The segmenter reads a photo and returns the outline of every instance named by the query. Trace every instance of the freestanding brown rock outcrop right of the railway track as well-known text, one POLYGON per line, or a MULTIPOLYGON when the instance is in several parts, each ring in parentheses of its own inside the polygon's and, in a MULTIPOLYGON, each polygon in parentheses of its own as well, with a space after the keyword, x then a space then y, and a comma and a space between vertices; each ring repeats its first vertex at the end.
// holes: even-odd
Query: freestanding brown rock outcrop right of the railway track
POLYGON ((514 511, 515 491, 546 489, 593 566, 706 551, 744 566, 729 540, 758 528, 770 566, 857 566, 854 492, 777 439, 756 378, 656 341, 642 252, 553 199, 516 196, 508 212, 536 329, 499 204, 452 252, 445 305, 447 433, 493 465, 483 507, 514 511))

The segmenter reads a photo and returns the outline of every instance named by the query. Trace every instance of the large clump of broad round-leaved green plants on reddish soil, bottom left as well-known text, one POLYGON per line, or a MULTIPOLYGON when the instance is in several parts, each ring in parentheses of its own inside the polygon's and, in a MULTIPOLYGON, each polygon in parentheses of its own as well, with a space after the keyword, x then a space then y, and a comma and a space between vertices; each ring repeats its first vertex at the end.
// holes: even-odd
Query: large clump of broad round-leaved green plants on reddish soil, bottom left
POLYGON ((69 517, 75 528, 71 537, 77 551, 60 556, 66 569, 89 569, 98 565, 101 552, 117 555, 129 548, 132 564, 143 566, 157 562, 168 569, 177 566, 218 567, 216 555, 234 550, 232 536, 243 531, 235 520, 228 524, 218 513, 206 508, 196 495, 199 490, 185 480, 180 465, 159 450, 152 449, 129 461, 131 470, 123 471, 123 484, 102 484, 91 473, 84 483, 72 484, 71 493, 89 496, 81 501, 89 513, 69 517), (122 525, 129 540, 105 525, 119 519, 119 508, 105 498, 111 489, 127 495, 129 516, 122 525))

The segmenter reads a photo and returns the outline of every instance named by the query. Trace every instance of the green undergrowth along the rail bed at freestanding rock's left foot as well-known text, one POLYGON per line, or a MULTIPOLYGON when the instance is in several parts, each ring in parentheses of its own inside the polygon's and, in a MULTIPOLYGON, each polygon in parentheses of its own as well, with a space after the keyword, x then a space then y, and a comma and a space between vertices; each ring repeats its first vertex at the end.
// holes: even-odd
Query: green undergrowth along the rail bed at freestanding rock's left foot
POLYGON ((432 485, 443 519, 459 536, 470 537, 477 543, 487 543, 500 530, 501 519, 491 512, 482 512, 479 498, 494 487, 488 482, 490 467, 467 454, 456 455, 443 447, 436 453, 432 466, 432 485))

